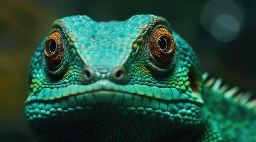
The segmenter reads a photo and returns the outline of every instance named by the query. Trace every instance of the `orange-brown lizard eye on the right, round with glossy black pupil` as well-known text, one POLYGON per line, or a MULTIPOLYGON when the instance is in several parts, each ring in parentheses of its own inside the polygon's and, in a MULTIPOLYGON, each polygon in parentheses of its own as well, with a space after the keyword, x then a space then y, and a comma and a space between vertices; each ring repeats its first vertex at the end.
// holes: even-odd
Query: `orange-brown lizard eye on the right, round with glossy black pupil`
POLYGON ((168 63, 175 53, 176 44, 170 32, 157 28, 149 37, 148 48, 157 61, 168 63))

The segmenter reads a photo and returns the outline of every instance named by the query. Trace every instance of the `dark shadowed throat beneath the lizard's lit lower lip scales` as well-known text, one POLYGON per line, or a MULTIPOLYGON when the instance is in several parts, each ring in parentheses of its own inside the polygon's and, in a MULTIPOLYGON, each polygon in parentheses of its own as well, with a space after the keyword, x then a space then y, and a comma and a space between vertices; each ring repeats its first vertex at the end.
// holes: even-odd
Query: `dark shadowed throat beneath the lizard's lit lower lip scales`
MULTIPOLYGON (((171 125, 168 119, 146 117, 125 111, 113 111, 112 107, 95 109, 92 114, 72 114, 72 118, 56 117, 51 122, 31 124, 38 141, 159 141, 179 139, 175 136, 191 133, 171 125)), ((89 114, 89 113, 87 113, 89 114)), ((198 130, 199 131, 199 130, 198 130)), ((197 132, 198 132, 197 131, 197 132)))

